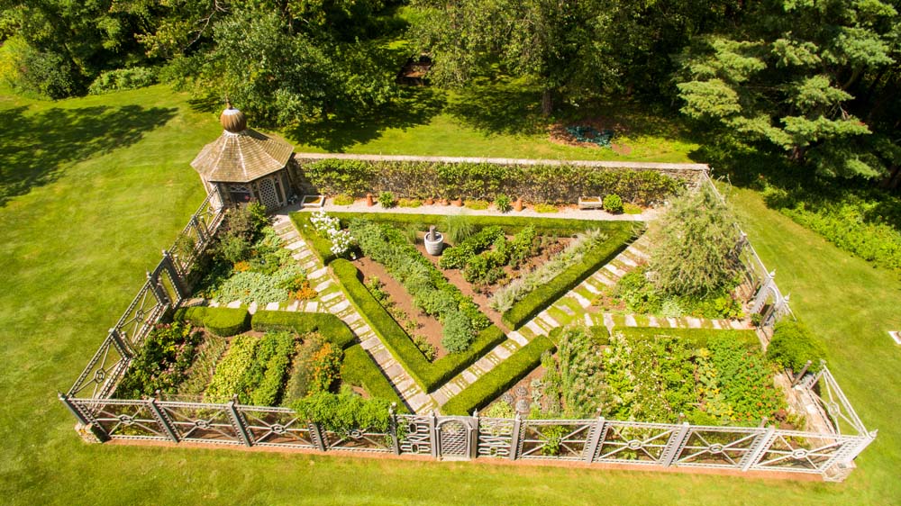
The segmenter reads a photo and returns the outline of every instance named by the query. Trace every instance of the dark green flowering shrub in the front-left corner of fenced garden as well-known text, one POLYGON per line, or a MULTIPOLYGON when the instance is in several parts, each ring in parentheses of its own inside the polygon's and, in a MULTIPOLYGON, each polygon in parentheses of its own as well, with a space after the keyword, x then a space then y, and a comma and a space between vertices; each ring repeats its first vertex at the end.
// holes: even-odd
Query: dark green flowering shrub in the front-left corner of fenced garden
POLYGON ((185 372, 201 340, 200 332, 192 331, 189 325, 177 321, 157 325, 132 358, 117 395, 123 399, 140 399, 154 395, 157 390, 176 393, 178 384, 187 377, 185 372))

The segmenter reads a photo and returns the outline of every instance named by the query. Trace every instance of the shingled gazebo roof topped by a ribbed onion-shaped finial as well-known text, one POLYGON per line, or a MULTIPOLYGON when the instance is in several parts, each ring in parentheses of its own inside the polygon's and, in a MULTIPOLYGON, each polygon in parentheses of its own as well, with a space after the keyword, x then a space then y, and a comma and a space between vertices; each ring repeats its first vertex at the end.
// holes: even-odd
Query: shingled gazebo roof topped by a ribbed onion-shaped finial
POLYGON ((250 183, 287 165, 294 146, 247 128, 244 113, 228 104, 219 117, 223 134, 191 162, 207 181, 250 183))

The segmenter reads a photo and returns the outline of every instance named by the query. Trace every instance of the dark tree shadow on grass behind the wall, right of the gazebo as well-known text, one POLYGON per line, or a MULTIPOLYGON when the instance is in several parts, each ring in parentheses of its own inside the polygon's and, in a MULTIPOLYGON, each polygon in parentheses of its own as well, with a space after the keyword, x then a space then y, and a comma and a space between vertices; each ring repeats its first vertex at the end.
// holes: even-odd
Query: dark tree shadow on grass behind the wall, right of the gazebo
POLYGON ((401 86, 392 103, 375 111, 305 122, 285 132, 299 143, 341 153, 355 144, 378 139, 388 128, 406 130, 427 124, 441 113, 446 103, 446 95, 441 90, 401 86))

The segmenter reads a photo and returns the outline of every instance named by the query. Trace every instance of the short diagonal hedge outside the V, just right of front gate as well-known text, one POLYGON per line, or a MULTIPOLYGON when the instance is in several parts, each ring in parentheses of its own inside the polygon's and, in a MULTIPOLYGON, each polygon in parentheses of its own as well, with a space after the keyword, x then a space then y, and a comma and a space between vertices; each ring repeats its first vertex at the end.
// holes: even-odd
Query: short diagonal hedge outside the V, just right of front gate
POLYGON ((532 342, 516 350, 475 383, 451 397, 450 401, 441 406, 441 412, 446 415, 469 415, 473 410, 484 408, 541 364, 545 351, 553 349, 551 339, 544 336, 532 339, 532 342))

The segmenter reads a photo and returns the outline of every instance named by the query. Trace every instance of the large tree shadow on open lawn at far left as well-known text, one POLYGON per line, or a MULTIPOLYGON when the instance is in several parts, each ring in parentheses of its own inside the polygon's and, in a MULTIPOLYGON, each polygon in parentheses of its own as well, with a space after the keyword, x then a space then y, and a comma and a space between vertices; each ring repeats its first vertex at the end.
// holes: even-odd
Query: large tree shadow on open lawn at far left
POLYGON ((27 111, 0 111, 0 207, 56 181, 73 163, 134 144, 144 132, 166 124, 177 109, 124 105, 27 111))

